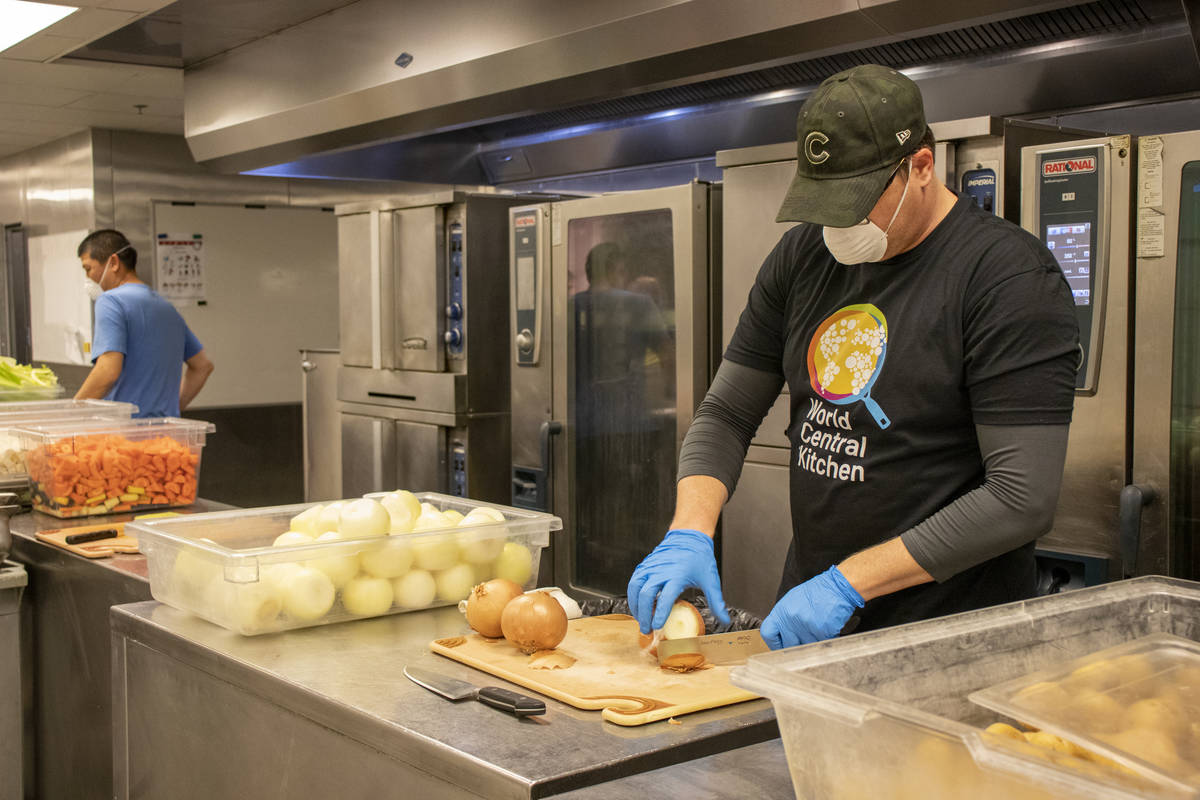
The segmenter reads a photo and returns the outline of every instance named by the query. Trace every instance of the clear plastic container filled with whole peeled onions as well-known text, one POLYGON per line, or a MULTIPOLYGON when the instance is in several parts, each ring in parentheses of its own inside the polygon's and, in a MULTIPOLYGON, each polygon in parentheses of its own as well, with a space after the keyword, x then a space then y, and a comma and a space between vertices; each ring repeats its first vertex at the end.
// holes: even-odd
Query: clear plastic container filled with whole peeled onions
MULTIPOLYGON (((146 557, 155 600, 245 636, 449 606, 493 577, 538 585, 541 551, 563 527, 558 517, 432 492, 414 497, 472 522, 347 539, 323 531, 324 540, 275 545, 300 513, 319 521, 312 510, 330 505, 307 503, 139 519, 126 531, 146 557), (472 515, 481 506, 498 513, 472 515)), ((310 531, 337 525, 338 516, 328 512, 310 531)))

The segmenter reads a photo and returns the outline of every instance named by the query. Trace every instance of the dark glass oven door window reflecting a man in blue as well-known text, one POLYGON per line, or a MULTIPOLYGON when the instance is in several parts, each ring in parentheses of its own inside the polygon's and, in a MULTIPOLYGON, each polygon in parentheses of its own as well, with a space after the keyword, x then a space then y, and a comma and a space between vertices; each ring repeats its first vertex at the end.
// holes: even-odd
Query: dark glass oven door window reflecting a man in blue
POLYGON ((667 209, 568 223, 574 585, 623 595, 674 510, 674 248, 667 209))

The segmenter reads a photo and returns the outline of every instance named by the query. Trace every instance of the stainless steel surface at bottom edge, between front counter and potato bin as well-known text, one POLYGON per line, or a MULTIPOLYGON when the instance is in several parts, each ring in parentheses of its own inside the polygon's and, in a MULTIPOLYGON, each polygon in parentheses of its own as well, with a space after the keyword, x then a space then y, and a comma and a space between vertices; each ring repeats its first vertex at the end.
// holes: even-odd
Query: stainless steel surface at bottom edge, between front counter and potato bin
POLYGON ((608 781, 554 796, 554 800, 630 800, 630 798, 688 798, 688 800, 794 800, 784 742, 772 739, 694 762, 608 781))

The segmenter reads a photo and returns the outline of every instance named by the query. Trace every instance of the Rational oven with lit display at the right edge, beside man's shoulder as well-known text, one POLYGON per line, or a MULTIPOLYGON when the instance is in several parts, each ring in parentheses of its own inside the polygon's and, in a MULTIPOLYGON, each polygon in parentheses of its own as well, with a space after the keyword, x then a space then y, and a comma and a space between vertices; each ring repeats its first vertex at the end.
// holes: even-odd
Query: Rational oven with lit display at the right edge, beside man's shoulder
POLYGON ((1200 132, 1022 152, 1025 227, 1075 296, 1081 354, 1044 549, 1200 577, 1200 132))

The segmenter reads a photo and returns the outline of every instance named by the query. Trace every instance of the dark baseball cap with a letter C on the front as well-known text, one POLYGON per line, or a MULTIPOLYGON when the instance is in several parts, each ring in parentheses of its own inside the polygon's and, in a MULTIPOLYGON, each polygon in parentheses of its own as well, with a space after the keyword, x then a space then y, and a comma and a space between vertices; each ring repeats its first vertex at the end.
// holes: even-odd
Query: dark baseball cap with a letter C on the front
POLYGON ((775 222, 862 222, 925 128, 920 90, 895 70, 865 64, 826 78, 796 120, 796 178, 775 222))

